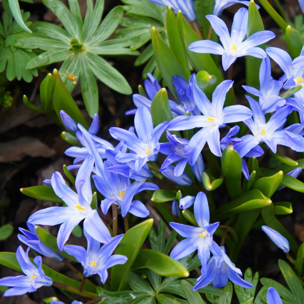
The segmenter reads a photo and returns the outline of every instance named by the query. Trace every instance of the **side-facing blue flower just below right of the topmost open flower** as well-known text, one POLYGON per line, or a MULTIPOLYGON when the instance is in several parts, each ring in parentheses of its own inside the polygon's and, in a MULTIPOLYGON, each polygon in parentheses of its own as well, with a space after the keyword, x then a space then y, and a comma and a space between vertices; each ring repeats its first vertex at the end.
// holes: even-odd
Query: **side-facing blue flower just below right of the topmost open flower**
POLYGON ((255 96, 259 97, 259 103, 264 113, 274 112, 277 108, 285 105, 286 100, 279 96, 283 82, 271 77, 270 59, 266 57, 262 60, 260 67, 260 90, 243 85, 243 88, 255 96))

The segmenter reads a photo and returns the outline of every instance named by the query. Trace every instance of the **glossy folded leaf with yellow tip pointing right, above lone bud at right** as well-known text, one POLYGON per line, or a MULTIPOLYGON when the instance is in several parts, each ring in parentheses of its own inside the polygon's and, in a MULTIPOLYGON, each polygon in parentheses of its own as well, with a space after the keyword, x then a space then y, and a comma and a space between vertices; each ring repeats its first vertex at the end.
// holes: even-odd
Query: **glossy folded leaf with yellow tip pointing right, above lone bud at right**
POLYGON ((224 219, 231 214, 244 212, 248 210, 258 209, 271 204, 268 199, 260 190, 252 189, 246 193, 241 194, 231 202, 221 206, 216 211, 219 219, 224 219))

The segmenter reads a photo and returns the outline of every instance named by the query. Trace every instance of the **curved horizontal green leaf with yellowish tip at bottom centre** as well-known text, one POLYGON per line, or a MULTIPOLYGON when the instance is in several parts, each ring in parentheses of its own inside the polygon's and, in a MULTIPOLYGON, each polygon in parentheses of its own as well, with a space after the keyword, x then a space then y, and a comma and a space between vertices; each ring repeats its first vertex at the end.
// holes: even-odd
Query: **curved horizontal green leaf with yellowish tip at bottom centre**
POLYGON ((166 254, 152 249, 140 250, 132 268, 148 268, 158 275, 166 277, 178 276, 186 278, 189 276, 189 272, 181 265, 181 263, 166 254))

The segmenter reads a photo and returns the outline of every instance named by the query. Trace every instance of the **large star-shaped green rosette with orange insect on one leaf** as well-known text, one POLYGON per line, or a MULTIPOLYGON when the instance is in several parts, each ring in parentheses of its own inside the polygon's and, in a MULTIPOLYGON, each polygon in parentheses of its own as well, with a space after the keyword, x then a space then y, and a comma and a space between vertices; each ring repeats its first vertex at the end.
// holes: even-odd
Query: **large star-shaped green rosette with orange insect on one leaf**
POLYGON ((81 94, 91 117, 98 112, 95 77, 117 92, 131 94, 126 79, 99 56, 138 54, 137 51, 130 51, 128 39, 107 40, 123 17, 122 7, 112 9, 100 24, 104 0, 97 0, 95 7, 92 0, 87 0, 88 9, 84 20, 77 0, 68 0, 70 9, 59 0, 42 2, 58 17, 64 29, 48 22, 33 23, 31 29, 47 35, 47 38, 30 37, 16 43, 18 46, 44 51, 30 60, 27 68, 64 61, 59 70, 60 76, 69 92, 73 91, 80 79, 81 94))

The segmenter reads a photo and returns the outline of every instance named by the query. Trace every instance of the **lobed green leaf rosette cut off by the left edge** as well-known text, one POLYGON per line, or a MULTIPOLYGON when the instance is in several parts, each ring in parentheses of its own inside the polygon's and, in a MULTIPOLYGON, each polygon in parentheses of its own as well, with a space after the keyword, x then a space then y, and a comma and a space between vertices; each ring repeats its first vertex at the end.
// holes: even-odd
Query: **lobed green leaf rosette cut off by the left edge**
MULTIPOLYGON (((26 22, 29 18, 29 12, 23 13, 22 19, 26 22)), ((26 69, 28 62, 36 57, 30 47, 16 47, 15 43, 21 38, 33 37, 38 39, 36 34, 26 33, 14 20, 11 12, 5 10, 2 14, 0 23, 0 72, 6 68, 6 78, 12 81, 14 78, 20 80, 23 78, 26 82, 31 82, 33 76, 37 76, 36 67, 26 69)), ((31 22, 26 22, 29 26, 31 22)))

